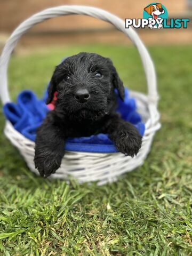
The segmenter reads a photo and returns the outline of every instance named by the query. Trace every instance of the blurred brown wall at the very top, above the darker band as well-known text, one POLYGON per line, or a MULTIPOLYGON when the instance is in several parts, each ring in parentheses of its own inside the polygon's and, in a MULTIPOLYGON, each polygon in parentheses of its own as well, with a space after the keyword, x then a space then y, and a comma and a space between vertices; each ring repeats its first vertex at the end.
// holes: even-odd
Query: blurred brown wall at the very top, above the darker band
MULTIPOLYGON (((0 32, 10 32, 30 15, 47 7, 65 4, 84 4, 100 7, 119 17, 142 18, 143 8, 149 0, 0 0, 0 32)), ((167 8, 169 15, 177 15, 187 9, 187 0, 161 1, 167 8)), ((33 28, 32 31, 60 31, 70 29, 105 28, 109 25, 94 18, 73 15, 45 21, 33 28)))

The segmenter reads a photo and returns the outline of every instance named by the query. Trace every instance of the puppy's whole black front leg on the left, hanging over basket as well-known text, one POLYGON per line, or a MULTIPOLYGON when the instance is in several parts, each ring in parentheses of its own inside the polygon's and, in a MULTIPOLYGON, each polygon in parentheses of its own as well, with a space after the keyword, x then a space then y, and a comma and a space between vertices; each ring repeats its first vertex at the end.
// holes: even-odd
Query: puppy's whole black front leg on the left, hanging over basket
POLYGON ((53 111, 49 112, 39 126, 35 141, 35 168, 45 177, 55 173, 65 153, 65 132, 61 131, 52 115, 53 111))

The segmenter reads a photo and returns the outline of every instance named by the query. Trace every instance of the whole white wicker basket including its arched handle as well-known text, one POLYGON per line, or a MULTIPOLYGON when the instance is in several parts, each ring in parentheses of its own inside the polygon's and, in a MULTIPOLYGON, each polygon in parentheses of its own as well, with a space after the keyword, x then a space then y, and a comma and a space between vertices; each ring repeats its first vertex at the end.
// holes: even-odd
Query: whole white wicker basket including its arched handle
MULTIPOLYGON (((157 110, 158 93, 153 61, 137 33, 132 28, 125 29, 123 20, 95 7, 77 5, 53 7, 31 16, 13 31, 3 49, 0 59, 0 95, 3 104, 10 101, 7 87, 7 67, 11 53, 19 38, 25 34, 29 28, 39 22, 70 14, 89 15, 107 21, 113 24, 118 30, 122 31, 137 47, 147 78, 148 95, 139 92, 131 92, 131 96, 136 100, 137 110, 141 114, 146 127, 142 139, 142 147, 137 157, 131 158, 121 153, 98 154, 70 151, 66 152, 65 157, 63 157, 60 169, 51 175, 52 178, 59 179, 67 179, 69 175, 72 175, 79 182, 98 181, 98 185, 102 185, 106 182, 113 182, 117 179, 118 175, 132 171, 139 165, 142 165, 149 153, 154 134, 161 126, 159 124, 159 113, 157 110)), ((34 167, 34 142, 23 137, 8 121, 6 122, 4 132, 12 144, 19 149, 30 170, 38 174, 38 171, 34 167)))

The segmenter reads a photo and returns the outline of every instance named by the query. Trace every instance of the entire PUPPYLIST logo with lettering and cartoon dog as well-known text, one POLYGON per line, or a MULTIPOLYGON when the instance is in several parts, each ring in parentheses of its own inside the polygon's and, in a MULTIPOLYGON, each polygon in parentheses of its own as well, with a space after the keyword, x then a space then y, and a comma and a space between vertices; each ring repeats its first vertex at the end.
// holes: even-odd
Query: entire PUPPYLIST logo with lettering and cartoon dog
POLYGON ((168 13, 163 4, 151 3, 144 8, 143 19, 125 19, 125 28, 187 28, 189 19, 170 19, 168 22, 167 18, 168 13))

